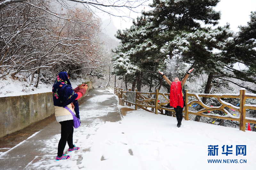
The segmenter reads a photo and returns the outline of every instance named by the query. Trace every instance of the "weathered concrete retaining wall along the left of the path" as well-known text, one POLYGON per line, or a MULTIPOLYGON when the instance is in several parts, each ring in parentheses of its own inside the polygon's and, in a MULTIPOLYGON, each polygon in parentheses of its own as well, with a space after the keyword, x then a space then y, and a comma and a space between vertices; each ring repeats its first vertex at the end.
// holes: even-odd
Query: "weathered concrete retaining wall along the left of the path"
MULTIPOLYGON (((93 83, 89 82, 87 92, 92 86, 93 83)), ((39 122, 54 112, 52 92, 0 97, 0 139, 39 122)))

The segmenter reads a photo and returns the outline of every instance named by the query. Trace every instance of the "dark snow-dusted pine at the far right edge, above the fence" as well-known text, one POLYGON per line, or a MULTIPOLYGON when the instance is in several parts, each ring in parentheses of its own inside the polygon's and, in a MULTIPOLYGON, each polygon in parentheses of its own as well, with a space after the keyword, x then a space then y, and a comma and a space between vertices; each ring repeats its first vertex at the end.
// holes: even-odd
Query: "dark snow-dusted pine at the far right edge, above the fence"
MULTIPOLYGON (((238 33, 227 43, 223 50, 222 55, 225 58, 229 58, 232 62, 229 65, 225 65, 229 73, 222 77, 235 78, 252 82, 256 85, 256 11, 251 12, 250 21, 247 23, 247 26, 240 26, 239 28, 238 33), (237 62, 244 64, 247 68, 244 70, 233 68, 233 65, 237 62)), ((255 88, 252 89, 233 81, 231 82, 256 93, 255 88)))

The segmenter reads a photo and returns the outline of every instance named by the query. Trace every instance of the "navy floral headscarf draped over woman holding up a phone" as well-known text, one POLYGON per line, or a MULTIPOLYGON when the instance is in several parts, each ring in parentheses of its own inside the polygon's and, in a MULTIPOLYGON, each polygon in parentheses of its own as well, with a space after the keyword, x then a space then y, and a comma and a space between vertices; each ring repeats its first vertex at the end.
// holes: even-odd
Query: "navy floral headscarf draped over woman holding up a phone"
POLYGON ((79 117, 79 108, 76 98, 78 94, 71 87, 71 83, 68 79, 66 72, 60 72, 52 86, 53 105, 59 107, 65 107, 72 103, 75 106, 76 115, 79 117))

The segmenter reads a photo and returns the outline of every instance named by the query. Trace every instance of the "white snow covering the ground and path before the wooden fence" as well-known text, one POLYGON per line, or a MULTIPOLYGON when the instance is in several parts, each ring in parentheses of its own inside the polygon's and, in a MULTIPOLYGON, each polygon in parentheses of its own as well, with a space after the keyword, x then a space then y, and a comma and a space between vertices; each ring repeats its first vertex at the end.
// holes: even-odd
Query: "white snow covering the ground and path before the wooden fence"
POLYGON ((256 166, 255 132, 185 120, 177 128, 174 117, 139 110, 121 116, 119 110, 128 106, 117 105, 116 96, 108 91, 99 92, 80 105, 82 126, 74 131, 74 143, 82 150, 68 153, 70 160, 54 162, 57 134, 41 141, 46 147, 25 169, 238 170, 256 166), (110 121, 108 116, 117 119, 110 121), (210 145, 218 148, 215 156, 208 156, 210 145), (236 156, 238 145, 246 148, 238 149, 236 156), (227 146, 232 148, 227 150, 227 146), (221 163, 208 163, 212 160, 221 163))

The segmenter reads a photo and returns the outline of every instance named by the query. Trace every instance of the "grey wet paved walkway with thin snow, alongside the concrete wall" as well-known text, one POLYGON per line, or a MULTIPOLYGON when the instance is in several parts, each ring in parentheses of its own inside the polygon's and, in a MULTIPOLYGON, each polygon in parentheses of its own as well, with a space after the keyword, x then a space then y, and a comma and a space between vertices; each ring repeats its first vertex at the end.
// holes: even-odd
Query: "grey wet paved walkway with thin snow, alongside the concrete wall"
MULTIPOLYGON (((89 95, 87 97, 84 97, 79 101, 80 114, 84 110, 86 110, 87 113, 106 112, 105 108, 108 108, 108 110, 110 108, 111 112, 107 112, 107 114, 102 114, 97 117, 89 116, 86 119, 81 118, 81 123, 83 126, 89 127, 90 125, 93 124, 93 122, 96 119, 97 119, 97 123, 99 123, 99 120, 103 123, 106 121, 116 122, 121 120, 122 115, 120 114, 120 111, 117 107, 116 97, 113 94, 111 94, 104 88, 91 89, 88 94, 89 95), (88 100, 91 97, 94 97, 97 95, 102 95, 103 97, 107 95, 108 99, 107 100, 105 99, 102 102, 88 100), (95 106, 97 107, 95 108, 95 106)), ((1 140, 0 147, 7 148, 6 150, 8 151, 4 152, 4 150, 0 150, 0 153, 3 152, 0 155, 0 167, 1 167, 0 169, 4 169, 4 170, 33 169, 33 166, 30 166, 30 165, 35 164, 37 161, 41 160, 42 150, 48 147, 46 146, 47 144, 44 143, 43 141, 50 140, 52 136, 60 134, 60 123, 58 123, 54 119, 55 117, 52 116, 14 135, 7 136, 5 140, 1 140), (23 137, 20 134, 24 134, 23 137), (29 135, 31 136, 24 139, 24 137, 27 137, 29 135), (11 148, 11 149, 8 149, 8 148, 11 148)), ((53 143, 53 144, 58 145, 57 143, 53 143)), ((38 168, 35 168, 35 169, 38 169, 38 168)))

